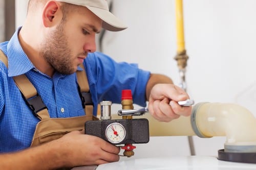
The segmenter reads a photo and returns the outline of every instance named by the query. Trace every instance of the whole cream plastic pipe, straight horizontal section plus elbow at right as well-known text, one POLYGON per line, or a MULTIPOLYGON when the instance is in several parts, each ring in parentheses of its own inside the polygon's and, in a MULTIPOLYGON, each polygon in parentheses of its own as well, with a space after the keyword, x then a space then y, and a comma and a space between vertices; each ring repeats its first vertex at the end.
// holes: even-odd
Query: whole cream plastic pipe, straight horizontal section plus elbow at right
POLYGON ((191 116, 169 123, 159 122, 149 113, 133 118, 149 120, 150 136, 226 136, 225 152, 256 153, 256 118, 237 104, 198 103, 191 116))

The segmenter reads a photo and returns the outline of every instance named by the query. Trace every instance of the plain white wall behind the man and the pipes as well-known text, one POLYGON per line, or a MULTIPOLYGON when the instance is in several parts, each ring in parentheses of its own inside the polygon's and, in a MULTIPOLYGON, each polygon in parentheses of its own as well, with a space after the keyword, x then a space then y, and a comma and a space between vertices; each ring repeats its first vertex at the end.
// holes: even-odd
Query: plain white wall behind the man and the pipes
MULTIPOLYGON (((16 2, 23 4, 17 10, 24 12, 27 0, 16 2)), ((178 67, 173 59, 177 48, 175 1, 113 2, 113 13, 129 28, 118 33, 107 32, 103 52, 117 61, 138 63, 143 69, 165 74, 178 84, 178 67)), ((256 114, 255 7, 253 0, 183 0, 185 46, 189 56, 187 92, 196 103, 238 103, 256 114)), ((17 18, 20 23, 25 16, 20 13, 17 18)), ((114 106, 114 110, 119 108, 114 106)), ((197 155, 217 155, 225 142, 224 137, 194 137, 194 140, 197 155)), ((137 150, 138 155, 147 153, 148 148, 162 155, 189 154, 186 137, 152 138, 140 148, 144 149, 137 150)))

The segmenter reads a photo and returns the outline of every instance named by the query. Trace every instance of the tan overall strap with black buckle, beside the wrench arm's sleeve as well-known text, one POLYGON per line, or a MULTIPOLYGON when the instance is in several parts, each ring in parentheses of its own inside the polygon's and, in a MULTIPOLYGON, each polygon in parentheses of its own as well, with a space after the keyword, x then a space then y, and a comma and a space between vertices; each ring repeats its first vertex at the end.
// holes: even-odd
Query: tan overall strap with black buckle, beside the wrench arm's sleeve
POLYGON ((83 63, 79 65, 82 68, 82 71, 76 71, 77 82, 80 89, 80 97, 82 101, 82 106, 86 115, 93 115, 93 101, 92 95, 90 93, 90 87, 86 75, 86 69, 83 66, 83 63))

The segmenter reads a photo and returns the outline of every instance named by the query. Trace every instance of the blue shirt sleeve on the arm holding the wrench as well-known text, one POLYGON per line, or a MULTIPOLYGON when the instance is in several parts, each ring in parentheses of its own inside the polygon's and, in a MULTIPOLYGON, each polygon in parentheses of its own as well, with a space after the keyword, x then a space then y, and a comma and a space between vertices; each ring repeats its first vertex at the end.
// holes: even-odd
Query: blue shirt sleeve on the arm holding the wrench
POLYGON ((91 53, 86 59, 86 67, 97 90, 98 101, 109 100, 121 103, 123 89, 131 89, 133 102, 146 106, 146 84, 150 71, 138 68, 138 64, 116 62, 102 53, 91 53))

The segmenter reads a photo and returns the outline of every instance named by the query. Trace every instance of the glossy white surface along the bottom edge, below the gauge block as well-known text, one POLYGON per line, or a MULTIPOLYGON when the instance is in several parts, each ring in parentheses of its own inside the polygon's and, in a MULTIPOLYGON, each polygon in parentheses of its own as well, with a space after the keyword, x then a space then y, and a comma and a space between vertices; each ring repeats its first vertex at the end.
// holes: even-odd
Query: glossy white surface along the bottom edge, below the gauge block
MULTIPOLYGON (((150 151, 148 151, 150 154, 150 151)), ((157 158, 132 159, 108 164, 99 165, 96 170, 113 169, 207 169, 207 170, 226 170, 226 169, 255 169, 256 164, 238 163, 218 160, 215 156, 172 156, 157 158)))

